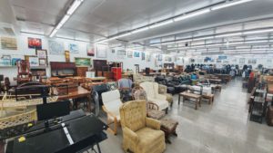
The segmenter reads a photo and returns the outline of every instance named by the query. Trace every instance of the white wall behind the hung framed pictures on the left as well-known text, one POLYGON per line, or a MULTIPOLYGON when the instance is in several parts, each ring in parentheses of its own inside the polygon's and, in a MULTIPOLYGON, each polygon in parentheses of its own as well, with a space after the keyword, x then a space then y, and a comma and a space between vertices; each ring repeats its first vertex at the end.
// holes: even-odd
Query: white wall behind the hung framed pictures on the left
MULTIPOLYGON (((5 36, 5 35, 0 35, 0 36, 5 36)), ((10 36, 8 36, 10 37, 10 36)), ((42 49, 47 50, 47 55, 48 55, 48 62, 65 62, 65 54, 61 55, 53 55, 50 54, 48 51, 48 38, 45 36, 40 36, 40 35, 33 35, 33 34, 21 34, 16 37, 17 40, 17 50, 3 50, 1 48, 1 43, 0 43, 0 57, 2 55, 11 55, 12 58, 21 58, 24 59, 25 55, 35 55, 35 49, 29 49, 28 48, 28 43, 27 43, 27 38, 28 37, 34 37, 34 38, 40 38, 42 39, 42 49)), ((155 56, 151 54, 151 61, 147 62, 146 60, 142 61, 141 60, 141 52, 140 52, 140 57, 133 57, 133 58, 127 58, 127 56, 123 59, 119 58, 116 53, 112 53, 111 49, 107 47, 107 58, 96 58, 96 53, 94 57, 87 56, 86 53, 86 47, 89 43, 85 42, 78 42, 78 41, 72 41, 72 40, 67 40, 67 39, 61 39, 61 38, 56 38, 53 39, 58 42, 64 43, 64 49, 68 49, 69 43, 76 43, 78 45, 79 53, 77 54, 72 54, 70 53, 70 61, 74 62, 75 57, 87 57, 91 59, 101 59, 101 60, 107 60, 108 62, 123 62, 124 63, 124 70, 130 69, 135 71, 135 64, 139 64, 140 70, 145 69, 146 67, 150 67, 151 69, 156 69, 155 65, 155 56)), ((99 51, 97 51, 99 52, 99 51)), ((16 67, 0 67, 0 74, 4 74, 5 76, 9 77, 10 79, 14 78, 17 74, 16 67)), ((50 66, 47 66, 46 68, 46 75, 51 76, 50 73, 50 66)))

